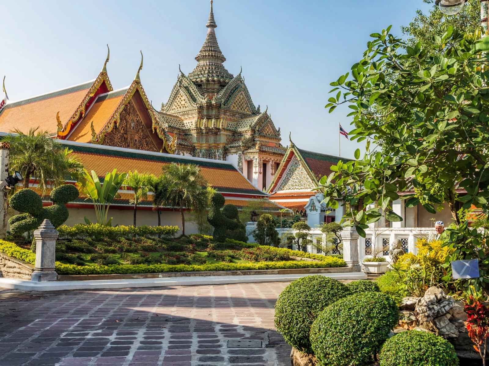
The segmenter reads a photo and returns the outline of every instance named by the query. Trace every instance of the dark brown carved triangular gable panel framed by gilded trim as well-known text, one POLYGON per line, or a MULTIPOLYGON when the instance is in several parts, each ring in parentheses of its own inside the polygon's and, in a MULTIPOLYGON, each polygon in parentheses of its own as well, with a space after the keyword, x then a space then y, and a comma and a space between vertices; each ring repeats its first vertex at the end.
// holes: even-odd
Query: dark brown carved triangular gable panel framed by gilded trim
POLYGON ((133 102, 124 107, 119 123, 105 135, 102 144, 158 152, 133 102))

